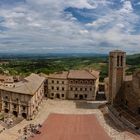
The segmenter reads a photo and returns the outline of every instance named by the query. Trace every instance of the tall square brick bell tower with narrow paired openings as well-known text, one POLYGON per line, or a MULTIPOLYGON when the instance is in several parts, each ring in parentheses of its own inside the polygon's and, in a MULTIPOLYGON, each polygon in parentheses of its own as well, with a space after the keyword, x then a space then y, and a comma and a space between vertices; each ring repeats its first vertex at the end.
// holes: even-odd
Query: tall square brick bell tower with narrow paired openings
POLYGON ((113 105, 125 78, 126 53, 115 50, 109 53, 109 102, 113 105))

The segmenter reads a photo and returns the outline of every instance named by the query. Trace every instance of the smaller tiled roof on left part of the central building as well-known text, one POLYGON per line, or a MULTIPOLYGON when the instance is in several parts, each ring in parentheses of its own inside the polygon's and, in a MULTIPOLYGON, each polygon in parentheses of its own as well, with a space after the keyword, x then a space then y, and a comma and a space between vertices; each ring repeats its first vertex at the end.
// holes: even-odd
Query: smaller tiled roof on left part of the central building
POLYGON ((68 72, 67 71, 62 71, 62 72, 57 72, 54 74, 49 74, 49 78, 56 78, 56 79, 67 79, 68 72))

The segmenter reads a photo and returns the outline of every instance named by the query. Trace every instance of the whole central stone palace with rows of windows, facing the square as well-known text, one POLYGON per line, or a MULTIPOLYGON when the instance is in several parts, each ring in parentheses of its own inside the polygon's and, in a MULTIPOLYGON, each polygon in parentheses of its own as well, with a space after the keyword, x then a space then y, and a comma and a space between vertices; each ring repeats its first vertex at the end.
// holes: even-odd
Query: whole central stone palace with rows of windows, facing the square
POLYGON ((54 73, 48 76, 48 97, 95 100, 98 84, 98 71, 70 70, 54 73))

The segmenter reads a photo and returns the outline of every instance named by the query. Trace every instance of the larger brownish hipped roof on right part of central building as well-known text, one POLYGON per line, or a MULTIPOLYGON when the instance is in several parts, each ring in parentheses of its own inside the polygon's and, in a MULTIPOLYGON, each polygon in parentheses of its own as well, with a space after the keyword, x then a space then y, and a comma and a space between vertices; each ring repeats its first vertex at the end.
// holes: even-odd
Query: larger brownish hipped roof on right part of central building
POLYGON ((69 79, 97 79, 97 73, 89 70, 70 70, 69 79))

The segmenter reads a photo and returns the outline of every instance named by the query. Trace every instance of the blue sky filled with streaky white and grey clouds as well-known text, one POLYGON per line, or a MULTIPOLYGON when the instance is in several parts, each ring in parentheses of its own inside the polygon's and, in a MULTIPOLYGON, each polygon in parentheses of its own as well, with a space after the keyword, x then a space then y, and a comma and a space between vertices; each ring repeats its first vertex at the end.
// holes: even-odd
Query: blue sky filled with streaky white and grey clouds
POLYGON ((0 53, 140 53, 140 0, 0 0, 0 53))

